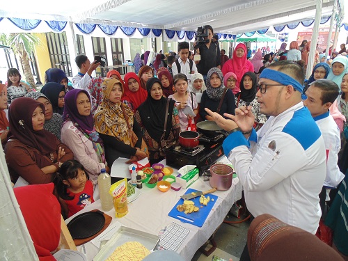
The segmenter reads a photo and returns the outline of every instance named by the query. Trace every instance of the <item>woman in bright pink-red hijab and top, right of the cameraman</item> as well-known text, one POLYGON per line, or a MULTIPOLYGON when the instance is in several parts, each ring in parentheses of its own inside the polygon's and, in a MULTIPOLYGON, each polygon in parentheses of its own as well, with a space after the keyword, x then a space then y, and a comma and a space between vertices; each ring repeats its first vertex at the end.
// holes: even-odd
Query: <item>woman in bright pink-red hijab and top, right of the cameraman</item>
POLYGON ((246 59, 246 46, 243 43, 237 45, 233 51, 232 58, 223 65, 221 71, 223 75, 228 72, 234 72, 237 75, 235 91, 239 92, 240 79, 242 79, 244 73, 254 72, 253 63, 246 59))

